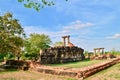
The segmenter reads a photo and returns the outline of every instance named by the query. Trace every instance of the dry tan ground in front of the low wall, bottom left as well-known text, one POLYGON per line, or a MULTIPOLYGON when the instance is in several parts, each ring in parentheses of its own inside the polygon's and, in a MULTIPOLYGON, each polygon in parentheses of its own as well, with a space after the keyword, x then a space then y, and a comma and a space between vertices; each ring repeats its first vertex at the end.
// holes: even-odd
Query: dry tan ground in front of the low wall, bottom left
POLYGON ((35 71, 0 72, 0 80, 76 80, 68 77, 42 74, 35 71))

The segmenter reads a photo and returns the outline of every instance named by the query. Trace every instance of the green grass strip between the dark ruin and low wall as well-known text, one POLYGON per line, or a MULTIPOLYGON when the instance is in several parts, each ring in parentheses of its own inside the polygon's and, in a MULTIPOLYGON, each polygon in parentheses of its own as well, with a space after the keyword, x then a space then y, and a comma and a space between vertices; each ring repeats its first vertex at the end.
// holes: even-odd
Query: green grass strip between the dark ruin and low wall
POLYGON ((108 60, 84 60, 79 62, 72 62, 72 63, 64 63, 64 64, 49 64, 48 66, 55 66, 55 67, 71 67, 71 68, 82 68, 94 64, 98 64, 100 62, 105 62, 108 60))

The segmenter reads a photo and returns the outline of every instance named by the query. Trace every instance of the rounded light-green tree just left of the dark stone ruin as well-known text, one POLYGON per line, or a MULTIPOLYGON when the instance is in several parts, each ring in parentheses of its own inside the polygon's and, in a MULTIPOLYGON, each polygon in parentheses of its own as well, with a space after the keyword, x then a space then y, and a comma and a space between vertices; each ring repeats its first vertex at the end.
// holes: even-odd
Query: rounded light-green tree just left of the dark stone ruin
POLYGON ((25 56, 36 59, 39 55, 40 49, 50 47, 51 40, 45 34, 30 34, 30 38, 26 39, 25 56))

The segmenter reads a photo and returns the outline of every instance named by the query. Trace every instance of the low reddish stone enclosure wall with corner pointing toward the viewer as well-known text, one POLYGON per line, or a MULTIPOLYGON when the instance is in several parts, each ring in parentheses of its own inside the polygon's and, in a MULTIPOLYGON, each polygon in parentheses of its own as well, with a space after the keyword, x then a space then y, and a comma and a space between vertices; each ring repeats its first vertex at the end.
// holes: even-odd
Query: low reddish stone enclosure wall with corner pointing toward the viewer
POLYGON ((68 77, 77 78, 77 79, 80 79, 80 78, 84 79, 96 72, 106 69, 119 62, 120 62, 120 58, 114 58, 114 59, 110 59, 109 61, 87 66, 84 68, 51 67, 51 66, 39 65, 39 63, 31 63, 30 66, 32 70, 35 70, 41 73, 62 75, 62 76, 68 76, 68 77))

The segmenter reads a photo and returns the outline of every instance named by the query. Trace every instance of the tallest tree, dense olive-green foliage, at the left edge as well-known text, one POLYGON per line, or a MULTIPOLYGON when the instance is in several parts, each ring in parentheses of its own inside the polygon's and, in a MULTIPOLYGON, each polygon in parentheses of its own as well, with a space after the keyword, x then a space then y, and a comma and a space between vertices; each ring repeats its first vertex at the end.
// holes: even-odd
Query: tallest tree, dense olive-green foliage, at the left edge
POLYGON ((0 16, 0 53, 19 54, 24 45, 25 33, 11 13, 0 16))

